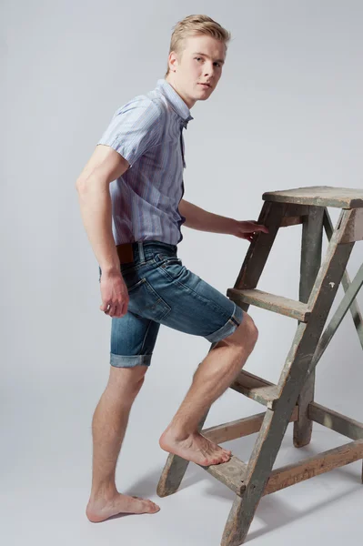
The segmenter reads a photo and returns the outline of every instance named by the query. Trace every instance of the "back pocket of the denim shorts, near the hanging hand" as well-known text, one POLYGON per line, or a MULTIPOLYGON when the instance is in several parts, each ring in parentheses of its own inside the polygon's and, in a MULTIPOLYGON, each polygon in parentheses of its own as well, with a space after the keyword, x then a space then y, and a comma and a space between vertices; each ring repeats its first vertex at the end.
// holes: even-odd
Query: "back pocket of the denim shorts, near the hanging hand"
POLYGON ((171 311, 171 307, 157 294, 146 278, 139 278, 127 286, 127 290, 128 309, 136 315, 159 322, 171 311))

